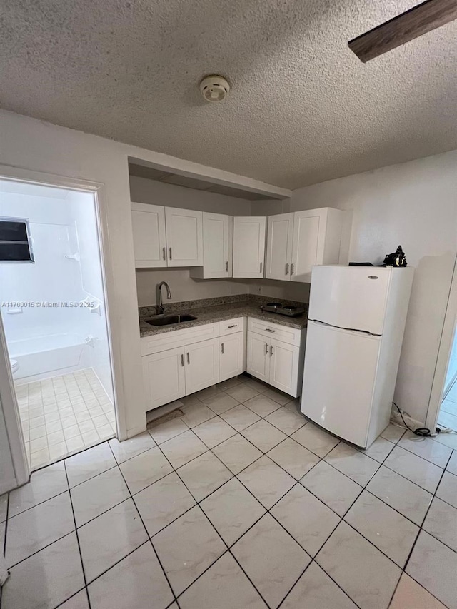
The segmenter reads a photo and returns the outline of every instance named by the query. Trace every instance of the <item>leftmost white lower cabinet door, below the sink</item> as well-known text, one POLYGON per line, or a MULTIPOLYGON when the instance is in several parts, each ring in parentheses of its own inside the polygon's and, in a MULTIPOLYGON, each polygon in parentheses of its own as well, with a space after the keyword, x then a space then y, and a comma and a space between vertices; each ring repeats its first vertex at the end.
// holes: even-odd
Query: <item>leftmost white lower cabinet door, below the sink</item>
POLYGON ((141 360, 146 391, 146 411, 186 395, 184 347, 143 356, 141 360))

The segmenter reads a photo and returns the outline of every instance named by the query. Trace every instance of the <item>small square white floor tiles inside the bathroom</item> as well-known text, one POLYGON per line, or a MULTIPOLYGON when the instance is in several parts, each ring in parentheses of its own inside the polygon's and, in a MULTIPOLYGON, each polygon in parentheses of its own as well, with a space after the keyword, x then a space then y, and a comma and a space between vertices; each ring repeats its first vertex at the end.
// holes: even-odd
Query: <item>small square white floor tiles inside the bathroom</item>
POLYGON ((116 435, 114 406, 92 368, 16 386, 31 470, 116 435))

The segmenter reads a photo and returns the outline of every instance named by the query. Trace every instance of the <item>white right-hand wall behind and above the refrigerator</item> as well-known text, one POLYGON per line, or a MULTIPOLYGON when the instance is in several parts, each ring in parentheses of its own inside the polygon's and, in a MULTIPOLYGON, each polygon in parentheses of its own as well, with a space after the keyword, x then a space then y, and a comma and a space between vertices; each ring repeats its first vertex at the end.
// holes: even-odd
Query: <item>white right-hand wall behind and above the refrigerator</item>
POLYGON ((353 211, 349 258, 382 263, 401 243, 416 268, 395 401, 426 419, 457 253, 457 151, 301 188, 291 211, 353 211))

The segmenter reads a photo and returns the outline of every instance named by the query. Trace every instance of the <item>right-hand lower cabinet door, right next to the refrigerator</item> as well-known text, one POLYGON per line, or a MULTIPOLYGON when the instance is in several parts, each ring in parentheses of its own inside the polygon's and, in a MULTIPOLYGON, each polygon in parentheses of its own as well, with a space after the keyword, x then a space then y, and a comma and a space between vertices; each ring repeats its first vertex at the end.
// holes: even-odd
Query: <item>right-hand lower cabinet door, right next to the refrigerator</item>
POLYGON ((271 339, 269 383, 290 396, 298 396, 300 348, 271 339))

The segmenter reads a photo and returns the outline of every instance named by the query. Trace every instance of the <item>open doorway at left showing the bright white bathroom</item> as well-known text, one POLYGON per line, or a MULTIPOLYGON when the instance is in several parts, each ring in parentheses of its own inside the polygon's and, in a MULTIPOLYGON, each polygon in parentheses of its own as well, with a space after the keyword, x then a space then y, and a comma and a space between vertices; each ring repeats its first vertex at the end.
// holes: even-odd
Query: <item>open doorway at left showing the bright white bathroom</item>
POLYGON ((0 179, 0 315, 30 469, 116 436, 94 193, 0 179))

